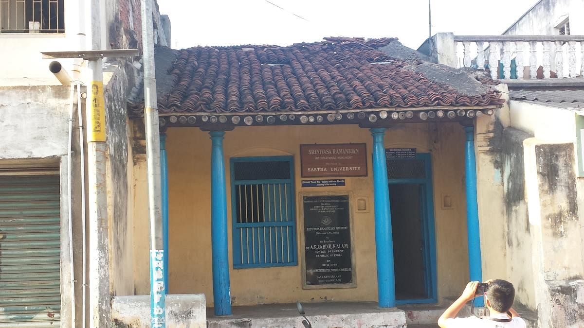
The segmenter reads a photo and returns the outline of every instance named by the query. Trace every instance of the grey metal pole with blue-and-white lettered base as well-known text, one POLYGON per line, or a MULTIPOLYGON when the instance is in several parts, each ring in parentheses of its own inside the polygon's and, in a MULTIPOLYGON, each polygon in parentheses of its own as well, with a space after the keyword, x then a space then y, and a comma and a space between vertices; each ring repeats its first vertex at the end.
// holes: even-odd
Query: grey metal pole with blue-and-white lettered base
POLYGON ((144 125, 148 172, 148 218, 150 221, 150 315, 151 327, 166 327, 164 242, 160 174, 160 131, 154 71, 152 0, 141 0, 142 60, 144 61, 144 125))

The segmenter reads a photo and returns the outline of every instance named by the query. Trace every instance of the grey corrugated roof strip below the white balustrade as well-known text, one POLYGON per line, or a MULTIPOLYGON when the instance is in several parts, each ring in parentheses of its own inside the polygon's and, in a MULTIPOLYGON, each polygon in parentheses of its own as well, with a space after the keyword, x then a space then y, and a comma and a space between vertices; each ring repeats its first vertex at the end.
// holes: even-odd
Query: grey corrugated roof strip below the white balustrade
POLYGON ((561 109, 584 110, 584 90, 582 89, 509 90, 509 97, 513 100, 561 109))

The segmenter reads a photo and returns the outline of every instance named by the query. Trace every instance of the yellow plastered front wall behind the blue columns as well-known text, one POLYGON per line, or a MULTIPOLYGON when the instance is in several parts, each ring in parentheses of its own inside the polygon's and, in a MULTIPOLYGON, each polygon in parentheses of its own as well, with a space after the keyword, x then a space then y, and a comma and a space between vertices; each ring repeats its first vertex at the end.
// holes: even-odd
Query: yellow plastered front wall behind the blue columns
MULTIPOLYGON (((402 124, 385 135, 387 148, 415 147, 431 152, 433 161, 439 298, 455 296, 468 279, 464 201, 464 131, 458 123, 402 124), (453 200, 453 208, 442 209, 442 196, 453 200)), ((213 305, 210 229, 210 153, 207 132, 196 128, 172 128, 166 141, 169 170, 169 293, 203 292, 213 305)), ((231 296, 234 305, 310 301, 376 301, 377 276, 374 239, 371 135, 356 125, 241 127, 228 131, 224 140, 227 186, 230 157, 293 155, 296 202, 303 191, 352 191, 367 197, 369 212, 353 207, 353 240, 357 288, 303 289, 303 252, 297 240, 298 266, 275 268, 231 268, 231 296), (366 142, 369 162, 367 177, 347 177, 343 187, 301 188, 300 144, 366 142)), ((145 163, 134 167, 134 251, 135 291, 148 294, 148 215, 145 195, 145 163)), ((231 227, 230 190, 227 191, 228 222, 231 227)), ((352 200, 353 201, 353 200, 352 200)), ((297 235, 301 236, 301 215, 297 204, 297 235)), ((231 228, 228 240, 231 248, 231 228)), ((232 252, 230 251, 230 259, 232 252)), ((230 260, 230 266, 232 261, 230 260)))

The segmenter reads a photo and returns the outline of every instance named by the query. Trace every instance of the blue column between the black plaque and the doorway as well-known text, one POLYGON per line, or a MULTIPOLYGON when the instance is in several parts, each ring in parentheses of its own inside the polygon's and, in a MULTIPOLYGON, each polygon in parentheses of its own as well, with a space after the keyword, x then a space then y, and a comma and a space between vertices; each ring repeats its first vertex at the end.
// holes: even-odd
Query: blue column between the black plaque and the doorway
POLYGON ((373 191, 375 198, 375 250, 380 308, 395 306, 394 244, 391 235, 390 192, 383 136, 385 128, 371 128, 373 136, 373 191))

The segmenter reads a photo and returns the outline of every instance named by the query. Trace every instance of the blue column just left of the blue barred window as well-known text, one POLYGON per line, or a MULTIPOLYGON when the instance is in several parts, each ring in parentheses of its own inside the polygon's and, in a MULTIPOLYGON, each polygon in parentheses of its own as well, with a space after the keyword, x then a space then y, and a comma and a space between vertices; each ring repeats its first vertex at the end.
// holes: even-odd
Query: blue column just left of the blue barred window
POLYGON ((227 249, 227 191, 223 159, 224 131, 211 131, 211 248, 215 315, 231 315, 229 255, 227 249))

